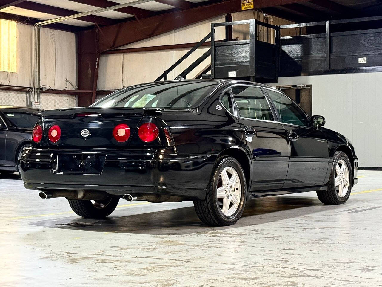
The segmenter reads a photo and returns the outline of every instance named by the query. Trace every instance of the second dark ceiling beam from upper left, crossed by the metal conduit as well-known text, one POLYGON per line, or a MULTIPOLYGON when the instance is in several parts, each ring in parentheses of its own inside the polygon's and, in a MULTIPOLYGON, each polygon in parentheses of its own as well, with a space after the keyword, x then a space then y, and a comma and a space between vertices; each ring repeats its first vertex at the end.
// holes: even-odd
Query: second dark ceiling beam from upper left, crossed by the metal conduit
MULTIPOLYGON (((57 15, 62 17, 81 13, 78 11, 58 8, 54 6, 49 6, 49 5, 40 4, 36 2, 29 2, 29 1, 20 2, 14 6, 27 9, 27 10, 32 10, 32 11, 37 11, 37 12, 42 12, 42 13, 47 13, 47 14, 52 14, 52 15, 57 15)), ((95 15, 82 16, 76 19, 91 22, 91 23, 97 22, 100 25, 112 25, 112 24, 118 23, 118 21, 114 19, 101 17, 101 16, 95 16, 95 15)))

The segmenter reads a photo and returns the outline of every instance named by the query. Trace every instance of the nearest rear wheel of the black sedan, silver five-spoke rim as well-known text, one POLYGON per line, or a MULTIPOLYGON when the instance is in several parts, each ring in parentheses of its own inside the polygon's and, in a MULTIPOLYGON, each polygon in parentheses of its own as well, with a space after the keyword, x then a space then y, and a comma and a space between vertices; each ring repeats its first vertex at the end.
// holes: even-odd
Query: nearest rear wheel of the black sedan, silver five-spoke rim
POLYGON ((235 224, 244 211, 247 187, 243 168, 231 157, 216 161, 204 200, 194 201, 199 219, 207 225, 235 224))

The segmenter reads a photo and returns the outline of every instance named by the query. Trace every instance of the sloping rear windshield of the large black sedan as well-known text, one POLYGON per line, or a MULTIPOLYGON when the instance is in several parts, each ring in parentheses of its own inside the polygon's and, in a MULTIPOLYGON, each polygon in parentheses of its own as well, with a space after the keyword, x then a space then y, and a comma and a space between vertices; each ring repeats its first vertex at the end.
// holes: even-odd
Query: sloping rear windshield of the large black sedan
POLYGON ((91 107, 190 108, 218 85, 212 81, 156 82, 116 91, 91 107))

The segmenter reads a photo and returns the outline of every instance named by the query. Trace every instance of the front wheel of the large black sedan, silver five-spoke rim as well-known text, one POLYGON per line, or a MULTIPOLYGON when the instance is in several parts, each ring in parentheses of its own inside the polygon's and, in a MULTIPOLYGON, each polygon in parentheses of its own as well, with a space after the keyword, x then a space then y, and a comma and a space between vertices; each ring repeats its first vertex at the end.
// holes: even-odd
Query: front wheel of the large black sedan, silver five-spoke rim
POLYGON ((348 201, 353 185, 351 163, 344 152, 335 152, 327 191, 317 191, 318 199, 324 204, 344 204, 348 201))

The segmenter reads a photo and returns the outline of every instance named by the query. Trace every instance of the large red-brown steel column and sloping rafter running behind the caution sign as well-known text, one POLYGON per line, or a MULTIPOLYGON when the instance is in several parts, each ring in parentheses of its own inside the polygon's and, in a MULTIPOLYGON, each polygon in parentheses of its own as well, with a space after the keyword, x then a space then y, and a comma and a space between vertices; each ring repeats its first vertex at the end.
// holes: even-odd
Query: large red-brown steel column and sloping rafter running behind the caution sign
MULTIPOLYGON (((305 0, 257 0, 254 9, 304 2, 305 0)), ((106 52, 126 44, 151 38, 175 29, 226 13, 241 11, 240 0, 228 0, 198 6, 191 9, 165 13, 150 18, 133 20, 112 26, 102 27, 99 33, 99 45, 96 44, 95 29, 79 33, 78 52, 78 87, 79 90, 93 90, 83 93, 79 98, 80 106, 89 106, 94 101, 94 86, 99 69, 99 52, 106 52), (94 44, 92 44, 94 43, 94 44)))

